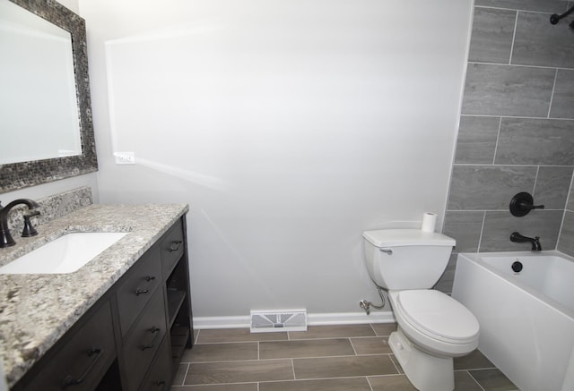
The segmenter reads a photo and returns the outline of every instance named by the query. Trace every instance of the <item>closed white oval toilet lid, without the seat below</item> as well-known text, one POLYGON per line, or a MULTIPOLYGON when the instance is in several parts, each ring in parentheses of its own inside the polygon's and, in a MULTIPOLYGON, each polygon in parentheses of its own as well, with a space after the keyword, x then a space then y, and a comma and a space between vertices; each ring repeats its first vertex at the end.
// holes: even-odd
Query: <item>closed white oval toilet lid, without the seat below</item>
POLYGON ((478 320, 471 311, 445 293, 402 291, 397 296, 397 303, 404 319, 429 336, 463 343, 478 335, 478 320))

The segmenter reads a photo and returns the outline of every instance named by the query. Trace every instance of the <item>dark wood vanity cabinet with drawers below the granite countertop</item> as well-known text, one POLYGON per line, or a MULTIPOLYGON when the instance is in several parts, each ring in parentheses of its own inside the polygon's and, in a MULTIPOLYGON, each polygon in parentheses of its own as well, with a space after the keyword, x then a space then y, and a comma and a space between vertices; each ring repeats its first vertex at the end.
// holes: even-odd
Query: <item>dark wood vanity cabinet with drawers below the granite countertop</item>
POLYGON ((167 391, 192 344, 184 216, 13 391, 167 391))

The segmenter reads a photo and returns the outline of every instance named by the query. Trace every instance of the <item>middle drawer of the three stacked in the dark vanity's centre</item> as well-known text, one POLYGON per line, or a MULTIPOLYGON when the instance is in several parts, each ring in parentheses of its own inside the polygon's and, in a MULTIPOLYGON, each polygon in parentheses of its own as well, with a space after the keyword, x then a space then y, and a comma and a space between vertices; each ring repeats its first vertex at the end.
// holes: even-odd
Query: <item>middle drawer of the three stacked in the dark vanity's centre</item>
POLYGON ((163 290, 153 293, 152 299, 124 340, 122 349, 126 370, 127 391, 136 390, 166 335, 163 290))

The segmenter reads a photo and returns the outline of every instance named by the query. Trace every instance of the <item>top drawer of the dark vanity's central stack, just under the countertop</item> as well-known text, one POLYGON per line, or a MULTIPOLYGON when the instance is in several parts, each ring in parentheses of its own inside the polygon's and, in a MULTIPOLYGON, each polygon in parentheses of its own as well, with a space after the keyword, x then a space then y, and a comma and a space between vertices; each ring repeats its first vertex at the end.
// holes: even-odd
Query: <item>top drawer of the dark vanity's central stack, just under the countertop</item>
POLYGON ((155 246, 143 254, 117 287, 117 310, 122 336, 126 336, 135 318, 150 301, 159 285, 161 285, 160 248, 155 246))

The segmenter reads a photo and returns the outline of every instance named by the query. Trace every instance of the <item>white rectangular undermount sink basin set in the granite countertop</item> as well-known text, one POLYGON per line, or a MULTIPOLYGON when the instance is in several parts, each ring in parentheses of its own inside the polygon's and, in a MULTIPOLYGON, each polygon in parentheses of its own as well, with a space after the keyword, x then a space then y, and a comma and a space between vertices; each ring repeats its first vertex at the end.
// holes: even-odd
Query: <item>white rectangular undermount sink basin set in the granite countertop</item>
POLYGON ((4 265, 0 268, 0 274, 74 273, 126 234, 109 232, 65 234, 4 265))

